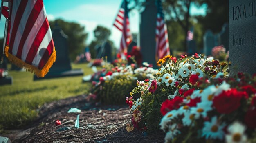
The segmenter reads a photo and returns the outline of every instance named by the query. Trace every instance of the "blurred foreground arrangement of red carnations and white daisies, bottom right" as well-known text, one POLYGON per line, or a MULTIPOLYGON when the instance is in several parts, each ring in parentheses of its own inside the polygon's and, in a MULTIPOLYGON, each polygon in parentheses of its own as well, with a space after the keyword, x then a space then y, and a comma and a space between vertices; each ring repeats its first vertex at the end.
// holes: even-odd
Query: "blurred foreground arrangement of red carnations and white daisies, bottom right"
POLYGON ((220 74, 191 79, 196 86, 162 103, 159 125, 166 132, 166 143, 255 142, 256 75, 220 74))

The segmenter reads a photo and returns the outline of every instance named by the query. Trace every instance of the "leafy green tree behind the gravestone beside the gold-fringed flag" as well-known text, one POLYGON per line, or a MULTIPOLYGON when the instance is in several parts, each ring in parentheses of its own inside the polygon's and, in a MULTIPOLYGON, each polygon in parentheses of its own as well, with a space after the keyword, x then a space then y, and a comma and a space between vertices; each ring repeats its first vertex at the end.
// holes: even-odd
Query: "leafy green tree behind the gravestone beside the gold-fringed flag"
POLYGON ((74 61, 76 56, 85 49, 85 40, 88 37, 88 33, 85 32, 85 26, 81 26, 76 22, 66 22, 61 19, 50 21, 49 24, 51 29, 60 27, 68 36, 67 44, 69 57, 72 61, 74 61))

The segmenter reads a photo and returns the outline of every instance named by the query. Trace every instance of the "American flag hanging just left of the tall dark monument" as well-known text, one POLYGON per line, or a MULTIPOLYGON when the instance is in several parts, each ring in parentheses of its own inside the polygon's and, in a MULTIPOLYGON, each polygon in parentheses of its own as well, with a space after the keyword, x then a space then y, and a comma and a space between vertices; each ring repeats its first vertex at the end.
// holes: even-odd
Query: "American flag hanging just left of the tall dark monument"
POLYGON ((130 23, 128 18, 128 9, 126 0, 123 1, 119 12, 117 14, 117 18, 115 19, 114 26, 122 32, 121 43, 119 54, 121 57, 125 57, 127 55, 127 47, 132 42, 132 34, 130 32, 130 23))

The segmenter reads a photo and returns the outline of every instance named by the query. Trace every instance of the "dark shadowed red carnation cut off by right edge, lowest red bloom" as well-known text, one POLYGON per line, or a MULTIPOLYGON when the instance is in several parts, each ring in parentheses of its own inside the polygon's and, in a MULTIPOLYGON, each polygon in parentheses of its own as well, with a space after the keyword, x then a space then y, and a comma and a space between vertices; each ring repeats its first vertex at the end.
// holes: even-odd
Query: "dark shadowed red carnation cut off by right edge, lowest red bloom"
POLYGON ((245 124, 248 128, 256 128, 256 108, 249 109, 245 115, 245 124))

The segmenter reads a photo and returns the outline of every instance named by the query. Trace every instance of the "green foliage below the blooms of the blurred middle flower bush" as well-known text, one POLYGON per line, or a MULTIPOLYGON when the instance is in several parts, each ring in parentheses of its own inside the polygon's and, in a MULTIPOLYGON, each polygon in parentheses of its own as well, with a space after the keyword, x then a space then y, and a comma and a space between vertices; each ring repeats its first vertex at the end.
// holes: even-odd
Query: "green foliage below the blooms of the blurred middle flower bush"
POLYGON ((124 104, 125 98, 136 86, 136 81, 130 75, 120 75, 105 81, 100 91, 99 100, 103 104, 124 104))

